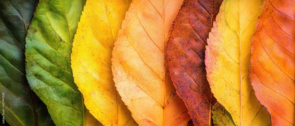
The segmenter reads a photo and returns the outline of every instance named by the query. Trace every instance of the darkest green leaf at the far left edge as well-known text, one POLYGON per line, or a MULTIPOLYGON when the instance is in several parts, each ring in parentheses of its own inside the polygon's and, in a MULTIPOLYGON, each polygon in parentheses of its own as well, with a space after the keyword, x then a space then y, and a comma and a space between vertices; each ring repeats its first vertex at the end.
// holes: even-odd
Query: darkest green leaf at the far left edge
POLYGON ((25 36, 37 4, 38 0, 0 1, 0 91, 4 118, 12 126, 53 125, 25 76, 25 36))

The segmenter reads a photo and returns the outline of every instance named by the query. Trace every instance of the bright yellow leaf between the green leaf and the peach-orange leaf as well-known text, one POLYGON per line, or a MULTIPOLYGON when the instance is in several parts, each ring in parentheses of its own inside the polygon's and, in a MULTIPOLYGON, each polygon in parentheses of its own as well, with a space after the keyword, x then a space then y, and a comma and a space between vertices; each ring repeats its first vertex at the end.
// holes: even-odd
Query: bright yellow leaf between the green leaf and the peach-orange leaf
POLYGON ((73 42, 71 67, 90 113, 105 126, 138 125, 117 93, 112 49, 131 0, 88 0, 73 42))

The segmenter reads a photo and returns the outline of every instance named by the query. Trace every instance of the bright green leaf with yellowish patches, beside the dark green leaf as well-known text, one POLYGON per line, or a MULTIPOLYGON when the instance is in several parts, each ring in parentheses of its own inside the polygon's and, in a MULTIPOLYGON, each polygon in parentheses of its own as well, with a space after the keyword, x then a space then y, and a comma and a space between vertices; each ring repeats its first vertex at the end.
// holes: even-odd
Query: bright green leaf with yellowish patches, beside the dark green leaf
POLYGON ((26 38, 31 88, 56 125, 85 125, 83 96, 71 69, 73 38, 86 0, 41 0, 26 38))

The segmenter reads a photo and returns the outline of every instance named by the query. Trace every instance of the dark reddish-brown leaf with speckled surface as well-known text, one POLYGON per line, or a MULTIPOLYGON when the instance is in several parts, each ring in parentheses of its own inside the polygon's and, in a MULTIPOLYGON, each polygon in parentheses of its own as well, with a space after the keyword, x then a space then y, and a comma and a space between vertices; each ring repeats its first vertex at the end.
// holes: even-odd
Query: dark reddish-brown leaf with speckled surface
POLYGON ((195 125, 211 126, 216 99, 206 78, 205 46, 222 0, 185 0, 172 26, 168 66, 195 125))

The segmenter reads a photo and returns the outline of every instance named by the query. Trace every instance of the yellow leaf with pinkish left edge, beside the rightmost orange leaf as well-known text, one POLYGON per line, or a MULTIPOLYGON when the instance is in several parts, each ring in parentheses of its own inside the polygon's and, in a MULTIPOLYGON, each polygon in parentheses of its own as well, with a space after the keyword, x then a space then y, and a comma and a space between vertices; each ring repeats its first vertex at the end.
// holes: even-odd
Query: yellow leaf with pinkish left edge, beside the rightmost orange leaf
POLYGON ((270 124, 248 74, 250 46, 262 4, 263 0, 224 0, 206 46, 210 88, 238 126, 270 124))

